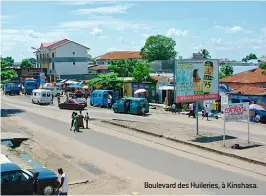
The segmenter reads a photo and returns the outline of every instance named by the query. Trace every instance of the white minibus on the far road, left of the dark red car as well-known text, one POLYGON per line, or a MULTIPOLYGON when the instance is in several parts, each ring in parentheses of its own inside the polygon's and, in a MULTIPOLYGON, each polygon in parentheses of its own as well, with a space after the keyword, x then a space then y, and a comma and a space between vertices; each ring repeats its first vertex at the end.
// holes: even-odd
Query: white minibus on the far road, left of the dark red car
POLYGON ((52 92, 44 89, 34 89, 31 96, 32 103, 50 104, 52 102, 52 92))

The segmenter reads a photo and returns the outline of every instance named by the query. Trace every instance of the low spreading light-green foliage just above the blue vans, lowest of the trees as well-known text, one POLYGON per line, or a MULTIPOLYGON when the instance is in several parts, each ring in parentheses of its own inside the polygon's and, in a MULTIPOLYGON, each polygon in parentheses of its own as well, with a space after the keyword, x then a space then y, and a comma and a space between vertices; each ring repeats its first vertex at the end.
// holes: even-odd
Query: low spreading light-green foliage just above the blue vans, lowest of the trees
POLYGON ((99 74, 97 78, 89 81, 89 86, 102 85, 103 89, 121 88, 122 81, 118 80, 116 73, 99 74))

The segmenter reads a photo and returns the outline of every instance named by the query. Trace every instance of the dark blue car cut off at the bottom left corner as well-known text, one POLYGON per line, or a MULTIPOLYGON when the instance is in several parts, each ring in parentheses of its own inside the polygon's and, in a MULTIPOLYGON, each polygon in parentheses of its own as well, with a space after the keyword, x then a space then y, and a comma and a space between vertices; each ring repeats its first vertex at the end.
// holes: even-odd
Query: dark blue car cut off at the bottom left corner
POLYGON ((26 170, 14 163, 3 163, 1 164, 1 195, 32 195, 35 172, 39 172, 41 195, 56 194, 58 181, 53 171, 46 168, 26 170))

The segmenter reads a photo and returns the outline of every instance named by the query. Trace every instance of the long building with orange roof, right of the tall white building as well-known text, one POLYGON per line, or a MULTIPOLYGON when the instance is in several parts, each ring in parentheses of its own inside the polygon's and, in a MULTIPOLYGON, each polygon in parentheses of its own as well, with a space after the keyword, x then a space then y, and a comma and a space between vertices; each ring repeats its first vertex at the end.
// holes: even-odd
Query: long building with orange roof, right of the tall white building
POLYGON ((111 61, 113 60, 129 59, 142 60, 142 56, 140 55, 139 51, 113 51, 94 58, 94 60, 96 61, 96 65, 106 66, 111 65, 111 61))

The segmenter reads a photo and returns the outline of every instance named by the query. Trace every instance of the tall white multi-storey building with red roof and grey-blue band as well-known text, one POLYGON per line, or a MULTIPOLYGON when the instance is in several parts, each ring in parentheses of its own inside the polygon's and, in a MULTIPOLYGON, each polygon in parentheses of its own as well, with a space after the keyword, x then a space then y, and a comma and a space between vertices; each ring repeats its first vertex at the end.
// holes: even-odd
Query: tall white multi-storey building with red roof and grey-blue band
POLYGON ((37 49, 37 67, 47 68, 50 81, 56 76, 62 79, 82 80, 88 74, 88 51, 86 46, 68 39, 42 43, 37 49))

